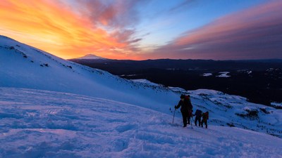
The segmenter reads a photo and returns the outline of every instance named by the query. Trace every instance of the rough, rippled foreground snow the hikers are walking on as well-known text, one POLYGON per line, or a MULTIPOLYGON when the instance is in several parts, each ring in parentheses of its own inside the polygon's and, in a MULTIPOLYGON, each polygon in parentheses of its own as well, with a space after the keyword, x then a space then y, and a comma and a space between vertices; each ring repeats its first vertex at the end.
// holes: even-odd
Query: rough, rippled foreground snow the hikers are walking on
POLYGON ((144 107, 70 93, 0 88, 0 157, 281 157, 282 139, 191 126, 144 107))

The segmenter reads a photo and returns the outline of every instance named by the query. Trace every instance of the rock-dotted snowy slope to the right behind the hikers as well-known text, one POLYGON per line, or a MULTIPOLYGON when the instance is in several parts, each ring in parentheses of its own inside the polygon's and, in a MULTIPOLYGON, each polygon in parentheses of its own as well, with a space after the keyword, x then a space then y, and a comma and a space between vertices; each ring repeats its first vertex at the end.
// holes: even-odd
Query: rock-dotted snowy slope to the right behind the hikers
POLYGON ((246 98, 207 89, 189 91, 192 104, 209 111, 210 122, 261 131, 282 138, 282 110, 247 102, 246 98))

